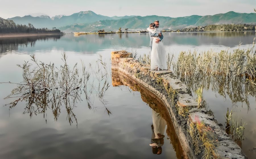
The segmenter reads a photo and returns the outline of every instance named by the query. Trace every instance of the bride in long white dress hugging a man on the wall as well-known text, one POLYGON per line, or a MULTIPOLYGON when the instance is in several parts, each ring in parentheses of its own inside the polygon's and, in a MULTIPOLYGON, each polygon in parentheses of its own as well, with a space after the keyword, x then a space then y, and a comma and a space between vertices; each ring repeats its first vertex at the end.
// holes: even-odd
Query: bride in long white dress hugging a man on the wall
MULTIPOLYGON (((147 30, 151 33, 160 33, 161 30, 155 28, 155 24, 151 23, 147 30)), ((156 43, 156 39, 160 36, 153 37, 152 50, 151 50, 151 70, 166 70, 167 69, 167 59, 162 41, 156 43)))

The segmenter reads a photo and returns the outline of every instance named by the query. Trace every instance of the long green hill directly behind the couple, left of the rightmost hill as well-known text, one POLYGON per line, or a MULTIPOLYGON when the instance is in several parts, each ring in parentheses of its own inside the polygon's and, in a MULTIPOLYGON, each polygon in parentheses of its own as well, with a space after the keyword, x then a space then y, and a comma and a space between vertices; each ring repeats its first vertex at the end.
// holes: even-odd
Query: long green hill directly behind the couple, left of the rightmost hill
POLYGON ((161 28, 184 28, 186 26, 190 26, 195 24, 201 16, 192 15, 185 16, 179 18, 171 18, 168 16, 134 16, 132 18, 126 19, 118 19, 118 20, 100 20, 93 23, 87 24, 73 24, 65 27, 61 27, 59 29, 64 30, 66 32, 74 32, 74 31, 98 31, 104 29, 105 31, 116 31, 121 28, 129 28, 129 29, 144 29, 147 28, 150 23, 154 20, 160 21, 161 28))

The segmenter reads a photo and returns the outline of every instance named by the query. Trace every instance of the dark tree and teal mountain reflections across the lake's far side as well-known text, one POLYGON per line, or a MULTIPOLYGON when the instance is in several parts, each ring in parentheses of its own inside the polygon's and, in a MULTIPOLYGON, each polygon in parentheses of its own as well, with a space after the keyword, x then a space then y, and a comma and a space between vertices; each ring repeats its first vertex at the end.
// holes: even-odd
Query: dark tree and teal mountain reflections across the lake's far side
MULTIPOLYGON (((105 49, 148 47, 150 41, 148 34, 87 34, 77 37, 74 37, 73 34, 65 34, 60 37, 61 35, 1 39, 0 53, 17 50, 18 45, 22 45, 30 47, 30 49, 26 49, 28 53, 34 53, 34 51, 38 49, 49 50, 55 48, 58 50, 88 54, 105 49), (57 39, 59 40, 53 42, 51 39, 55 41, 57 39)), ((251 44, 254 37, 255 32, 172 32, 164 33, 163 42, 165 46, 222 45, 225 47, 235 47, 239 42, 251 44)), ((21 48, 19 49, 22 50, 21 48)))

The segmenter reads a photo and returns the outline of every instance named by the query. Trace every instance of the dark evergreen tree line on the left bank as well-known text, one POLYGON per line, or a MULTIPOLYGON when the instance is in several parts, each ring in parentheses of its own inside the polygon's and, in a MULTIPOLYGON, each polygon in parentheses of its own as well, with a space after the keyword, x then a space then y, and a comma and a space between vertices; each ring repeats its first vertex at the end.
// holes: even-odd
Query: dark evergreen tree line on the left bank
POLYGON ((0 33, 60 33, 59 29, 35 28, 33 24, 28 25, 15 24, 13 20, 7 20, 0 17, 0 33))

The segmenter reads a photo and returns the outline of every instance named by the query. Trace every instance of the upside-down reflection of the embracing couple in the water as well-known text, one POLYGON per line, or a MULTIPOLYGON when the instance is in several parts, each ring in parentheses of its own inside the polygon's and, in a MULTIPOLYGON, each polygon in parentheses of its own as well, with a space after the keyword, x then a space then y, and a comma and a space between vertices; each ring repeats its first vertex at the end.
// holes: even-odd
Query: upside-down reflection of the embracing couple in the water
POLYGON ((157 113, 152 109, 152 120, 153 124, 151 125, 151 143, 153 154, 162 154, 162 146, 164 145, 164 130, 166 127, 166 121, 160 116, 160 113, 157 113))

